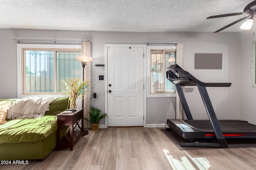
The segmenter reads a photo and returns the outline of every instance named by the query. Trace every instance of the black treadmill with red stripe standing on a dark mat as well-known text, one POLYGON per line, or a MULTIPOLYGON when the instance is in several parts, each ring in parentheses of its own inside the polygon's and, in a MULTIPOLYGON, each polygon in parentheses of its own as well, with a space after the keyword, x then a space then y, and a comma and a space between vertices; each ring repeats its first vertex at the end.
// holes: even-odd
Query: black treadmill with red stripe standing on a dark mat
POLYGON ((181 147, 213 147, 228 148, 225 138, 256 138, 256 125, 244 120, 219 120, 206 87, 229 87, 231 83, 205 83, 196 79, 178 64, 167 67, 166 78, 175 84, 180 96, 187 120, 167 119, 167 130, 172 130, 188 143, 180 143, 181 147), (193 120, 181 86, 197 86, 206 108, 209 120, 193 120), (194 142, 194 140, 201 140, 194 142), (208 139, 213 139, 208 141, 208 139), (207 141, 207 142, 204 142, 207 141))

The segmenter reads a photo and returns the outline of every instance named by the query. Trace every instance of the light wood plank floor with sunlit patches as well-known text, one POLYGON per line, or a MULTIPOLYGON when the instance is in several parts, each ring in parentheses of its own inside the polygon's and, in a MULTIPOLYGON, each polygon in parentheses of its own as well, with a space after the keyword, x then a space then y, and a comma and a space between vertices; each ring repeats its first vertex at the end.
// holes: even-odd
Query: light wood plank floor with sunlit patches
POLYGON ((90 131, 73 151, 52 151, 42 162, 0 170, 253 170, 256 148, 179 150, 161 128, 90 131))

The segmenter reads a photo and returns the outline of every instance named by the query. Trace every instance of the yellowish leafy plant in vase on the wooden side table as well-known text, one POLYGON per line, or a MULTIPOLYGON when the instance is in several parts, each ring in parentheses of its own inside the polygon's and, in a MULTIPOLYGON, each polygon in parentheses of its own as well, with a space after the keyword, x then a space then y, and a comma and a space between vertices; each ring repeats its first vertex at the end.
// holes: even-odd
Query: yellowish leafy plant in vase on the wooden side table
POLYGON ((81 81, 80 79, 71 80, 69 82, 65 82, 62 80, 65 85, 65 89, 62 91, 62 95, 69 97, 69 106, 70 109, 77 109, 76 100, 81 98, 83 99, 83 95, 88 93, 91 88, 91 84, 89 81, 81 81))

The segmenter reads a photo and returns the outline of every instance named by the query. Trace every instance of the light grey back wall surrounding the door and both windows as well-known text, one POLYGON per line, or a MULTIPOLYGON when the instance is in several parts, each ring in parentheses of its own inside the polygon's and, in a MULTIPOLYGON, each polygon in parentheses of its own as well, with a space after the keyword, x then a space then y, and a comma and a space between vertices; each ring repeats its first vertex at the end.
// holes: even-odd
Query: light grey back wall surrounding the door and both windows
MULTIPOLYGON (((205 82, 231 82, 230 88, 208 88, 209 95, 218 119, 240 119, 240 36, 239 33, 177 33, 177 32, 99 32, 99 31, 53 31, 30 29, 0 29, 0 98, 17 97, 16 43, 14 37, 22 39, 90 39, 92 41, 92 93, 95 107, 104 110, 104 81, 98 80, 104 75, 104 44, 146 44, 148 41, 184 42, 184 69, 205 82), (222 70, 195 70, 194 53, 223 53, 222 70), (231 115, 231 117, 230 117, 231 115)), ((29 42, 31 43, 31 42, 29 42)), ((146 56, 146 55, 145 55, 146 56)), ((207 119, 202 100, 197 89, 186 88, 188 103, 194 118, 207 119), (193 90, 193 92, 190 92, 193 90)), ((166 123, 166 119, 175 118, 174 98, 147 98, 146 124, 166 123)), ((101 122, 101 125, 104 122, 101 122)))

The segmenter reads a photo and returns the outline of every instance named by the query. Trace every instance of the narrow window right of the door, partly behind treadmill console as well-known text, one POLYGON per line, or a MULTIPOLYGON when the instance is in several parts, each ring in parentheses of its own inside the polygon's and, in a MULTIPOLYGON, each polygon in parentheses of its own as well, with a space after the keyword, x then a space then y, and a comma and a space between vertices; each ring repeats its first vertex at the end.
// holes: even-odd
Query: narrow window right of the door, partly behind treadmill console
POLYGON ((179 57, 180 48, 177 49, 176 45, 147 46, 147 97, 176 96, 174 84, 166 78, 166 67, 176 62, 178 64, 182 62, 180 59, 182 57, 179 57))

